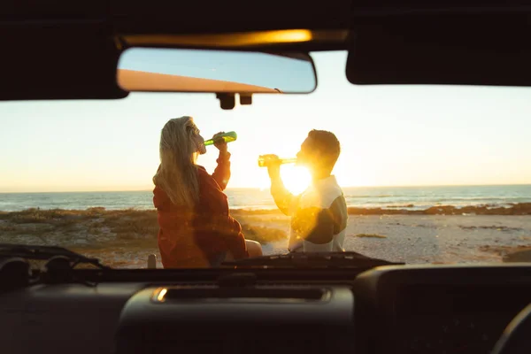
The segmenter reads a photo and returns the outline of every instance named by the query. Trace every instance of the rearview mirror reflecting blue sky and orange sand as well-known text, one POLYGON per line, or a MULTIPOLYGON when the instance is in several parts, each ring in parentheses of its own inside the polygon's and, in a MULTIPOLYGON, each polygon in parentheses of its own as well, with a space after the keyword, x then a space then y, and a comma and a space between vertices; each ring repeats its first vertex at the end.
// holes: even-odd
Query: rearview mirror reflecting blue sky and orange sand
POLYGON ((117 80, 127 91, 311 93, 315 67, 306 53, 130 48, 119 58, 117 80))

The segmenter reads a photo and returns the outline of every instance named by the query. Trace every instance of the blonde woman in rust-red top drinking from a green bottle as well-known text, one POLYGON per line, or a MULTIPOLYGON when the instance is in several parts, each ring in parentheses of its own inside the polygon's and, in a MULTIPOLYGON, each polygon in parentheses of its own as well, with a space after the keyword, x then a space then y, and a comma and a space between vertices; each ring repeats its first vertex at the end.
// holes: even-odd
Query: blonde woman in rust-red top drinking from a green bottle
POLYGON ((223 190, 230 178, 230 153, 223 139, 214 145, 219 158, 211 175, 196 165, 206 148, 191 117, 170 119, 162 128, 153 204, 165 268, 219 266, 225 260, 262 255, 260 244, 245 240, 242 227, 229 215, 223 190))

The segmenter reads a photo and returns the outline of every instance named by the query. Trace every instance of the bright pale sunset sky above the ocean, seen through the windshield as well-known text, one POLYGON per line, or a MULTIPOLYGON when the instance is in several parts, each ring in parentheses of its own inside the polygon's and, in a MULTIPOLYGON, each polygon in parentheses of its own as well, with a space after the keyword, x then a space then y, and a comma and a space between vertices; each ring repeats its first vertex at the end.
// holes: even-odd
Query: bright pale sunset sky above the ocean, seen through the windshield
MULTIPOLYGON (((152 189, 160 129, 183 115, 205 138, 237 132, 229 188, 266 188, 258 155, 294 157, 313 128, 341 142, 343 187, 531 183, 531 89, 361 87, 346 80, 346 52, 312 57, 315 92, 255 95, 233 111, 214 94, 0 103, 0 192, 152 189)), ((217 150, 207 149, 198 163, 212 172, 217 150)))

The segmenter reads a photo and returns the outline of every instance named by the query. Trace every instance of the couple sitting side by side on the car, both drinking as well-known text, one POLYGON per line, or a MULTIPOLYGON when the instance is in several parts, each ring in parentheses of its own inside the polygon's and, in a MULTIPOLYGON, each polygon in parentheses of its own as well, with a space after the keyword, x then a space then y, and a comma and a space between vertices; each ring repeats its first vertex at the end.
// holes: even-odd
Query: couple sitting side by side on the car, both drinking
MULTIPOLYGON (((160 135, 160 165, 153 177, 153 204, 158 211, 158 248, 165 268, 219 266, 232 259, 260 257, 258 242, 245 240, 230 216, 223 190, 230 178, 227 142, 214 135, 218 166, 209 174, 196 158, 206 152, 191 117, 170 119, 160 135)), ((331 175, 340 146, 334 134, 312 130, 297 153, 308 167, 312 185, 299 196, 281 181, 280 164, 268 165, 271 193, 281 212, 291 216, 289 250, 342 251, 347 207, 331 175)))

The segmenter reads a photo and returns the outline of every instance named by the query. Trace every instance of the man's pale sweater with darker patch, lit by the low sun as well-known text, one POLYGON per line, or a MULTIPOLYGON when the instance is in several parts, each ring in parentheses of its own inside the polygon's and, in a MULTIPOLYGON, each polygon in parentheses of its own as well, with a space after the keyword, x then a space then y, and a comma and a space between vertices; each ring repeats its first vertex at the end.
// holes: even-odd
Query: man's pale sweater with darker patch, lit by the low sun
POLYGON ((273 179, 271 194, 281 212, 291 217, 291 252, 343 251, 347 227, 347 204, 335 176, 314 181, 294 196, 281 179, 273 179))

